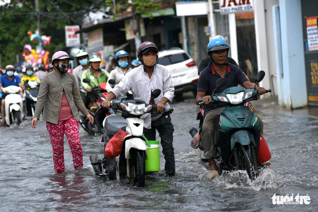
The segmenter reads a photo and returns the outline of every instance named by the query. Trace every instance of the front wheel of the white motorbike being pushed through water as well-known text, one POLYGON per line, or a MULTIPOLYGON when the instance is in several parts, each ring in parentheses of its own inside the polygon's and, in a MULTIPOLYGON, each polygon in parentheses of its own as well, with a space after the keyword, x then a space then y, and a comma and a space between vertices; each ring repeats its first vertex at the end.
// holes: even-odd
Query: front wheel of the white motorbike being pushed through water
POLYGON ((145 186, 145 154, 141 150, 134 150, 130 163, 130 184, 137 187, 145 186))

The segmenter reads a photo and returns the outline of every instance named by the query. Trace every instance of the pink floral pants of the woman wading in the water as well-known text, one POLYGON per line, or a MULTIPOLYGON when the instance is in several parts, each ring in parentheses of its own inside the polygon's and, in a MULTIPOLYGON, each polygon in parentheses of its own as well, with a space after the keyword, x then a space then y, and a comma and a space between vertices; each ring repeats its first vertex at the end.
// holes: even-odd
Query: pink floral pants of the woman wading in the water
POLYGON ((46 122, 46 129, 50 134, 54 170, 56 174, 65 171, 64 166, 64 133, 71 148, 74 168, 83 167, 83 151, 79 138, 79 122, 72 117, 66 121, 59 121, 58 124, 46 122))

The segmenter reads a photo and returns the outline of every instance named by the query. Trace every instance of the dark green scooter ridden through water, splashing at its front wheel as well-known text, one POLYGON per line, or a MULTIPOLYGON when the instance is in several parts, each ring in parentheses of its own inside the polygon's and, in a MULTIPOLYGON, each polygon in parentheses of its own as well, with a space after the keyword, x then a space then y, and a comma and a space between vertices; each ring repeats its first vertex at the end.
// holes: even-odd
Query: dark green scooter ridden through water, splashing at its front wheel
MULTIPOLYGON (((264 71, 258 72, 255 83, 260 82, 264 76, 264 71)), ((225 84, 226 79, 220 78, 216 82, 216 87, 221 88, 225 84)), ((266 90, 267 92, 271 92, 271 90, 266 90)), ((214 94, 213 92, 211 97, 211 103, 214 105, 227 106, 221 115, 214 117, 213 123, 214 146, 217 147, 217 156, 214 157, 214 160, 219 174, 224 170, 246 170, 251 181, 255 180, 259 174, 257 155, 261 137, 261 123, 252 108, 244 106, 244 104, 258 99, 256 85, 253 89, 239 86, 227 88, 222 93, 214 94)), ((202 103, 199 102, 199 106, 200 104, 202 103)), ((191 130, 193 129, 195 128, 191 130)), ((191 130, 190 134, 195 134, 191 130)), ((199 148, 204 151, 201 143, 199 148)), ((208 162, 204 156, 201 157, 201 161, 208 162)))

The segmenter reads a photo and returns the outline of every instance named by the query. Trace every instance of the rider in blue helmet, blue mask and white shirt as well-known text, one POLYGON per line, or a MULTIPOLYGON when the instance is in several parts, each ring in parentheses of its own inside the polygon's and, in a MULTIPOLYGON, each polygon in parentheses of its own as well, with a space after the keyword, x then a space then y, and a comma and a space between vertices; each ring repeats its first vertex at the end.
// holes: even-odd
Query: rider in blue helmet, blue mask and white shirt
POLYGON ((109 93, 114 85, 109 84, 110 79, 115 80, 115 85, 117 85, 122 79, 124 79, 126 73, 128 73, 131 68, 128 66, 129 55, 127 51, 118 51, 115 55, 116 67, 109 74, 106 90, 109 93))

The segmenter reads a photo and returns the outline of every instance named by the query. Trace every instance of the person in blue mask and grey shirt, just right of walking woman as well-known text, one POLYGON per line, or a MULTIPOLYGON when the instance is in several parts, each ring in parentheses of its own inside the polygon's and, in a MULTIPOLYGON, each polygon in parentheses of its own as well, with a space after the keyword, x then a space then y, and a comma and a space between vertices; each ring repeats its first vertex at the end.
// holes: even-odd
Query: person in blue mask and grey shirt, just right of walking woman
POLYGON ((75 76, 76 83, 79 88, 80 96, 83 99, 84 105, 87 107, 89 101, 87 101, 87 98, 86 98, 86 90, 82 86, 82 75, 83 75, 83 72, 89 68, 89 65, 88 65, 89 56, 87 51, 79 50, 79 52, 76 54, 76 57, 80 65, 74 68, 73 75, 75 76))

